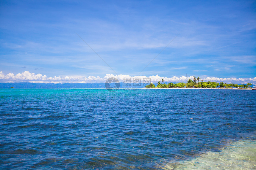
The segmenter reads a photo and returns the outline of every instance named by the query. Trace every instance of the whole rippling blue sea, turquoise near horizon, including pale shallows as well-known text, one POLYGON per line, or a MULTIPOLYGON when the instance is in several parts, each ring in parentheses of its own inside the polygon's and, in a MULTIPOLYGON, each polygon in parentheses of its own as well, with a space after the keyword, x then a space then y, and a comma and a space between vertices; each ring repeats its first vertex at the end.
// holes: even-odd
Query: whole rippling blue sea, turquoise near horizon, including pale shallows
POLYGON ((0 89, 0 169, 256 169, 256 90, 0 89))

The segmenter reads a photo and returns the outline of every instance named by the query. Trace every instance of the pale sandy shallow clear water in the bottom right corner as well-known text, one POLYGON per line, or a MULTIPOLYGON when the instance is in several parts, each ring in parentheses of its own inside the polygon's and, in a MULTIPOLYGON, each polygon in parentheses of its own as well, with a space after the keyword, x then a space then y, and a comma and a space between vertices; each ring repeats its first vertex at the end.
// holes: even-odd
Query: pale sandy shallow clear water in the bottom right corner
POLYGON ((219 152, 205 152, 200 156, 181 162, 169 162, 161 169, 256 169, 256 141, 232 142, 219 152))

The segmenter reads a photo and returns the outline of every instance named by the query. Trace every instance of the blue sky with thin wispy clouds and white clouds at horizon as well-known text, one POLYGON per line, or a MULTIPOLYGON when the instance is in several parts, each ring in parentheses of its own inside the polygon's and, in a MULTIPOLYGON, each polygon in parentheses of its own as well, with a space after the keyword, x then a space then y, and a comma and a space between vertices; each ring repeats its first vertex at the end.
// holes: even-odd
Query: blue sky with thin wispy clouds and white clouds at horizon
POLYGON ((255 84, 255 40, 256 1, 2 0, 0 82, 255 84))

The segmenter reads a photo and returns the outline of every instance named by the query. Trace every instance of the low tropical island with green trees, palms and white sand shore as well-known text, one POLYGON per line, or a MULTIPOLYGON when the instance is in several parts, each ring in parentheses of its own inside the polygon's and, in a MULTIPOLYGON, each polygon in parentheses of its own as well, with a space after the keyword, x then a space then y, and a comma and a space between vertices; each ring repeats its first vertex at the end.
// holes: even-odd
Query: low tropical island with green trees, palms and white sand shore
MULTIPOLYGON (((201 80, 202 82, 199 82, 200 78, 199 77, 195 77, 193 76, 193 80, 189 79, 188 82, 186 83, 168 83, 168 84, 161 84, 160 81, 157 82, 157 86, 155 86, 153 83, 150 83, 149 85, 146 85, 145 88, 250 88, 251 87, 251 83, 248 84, 227 84, 227 83, 217 83, 217 82, 204 82, 204 80, 201 80)), ((161 80, 162 82, 164 82, 164 79, 161 80)))

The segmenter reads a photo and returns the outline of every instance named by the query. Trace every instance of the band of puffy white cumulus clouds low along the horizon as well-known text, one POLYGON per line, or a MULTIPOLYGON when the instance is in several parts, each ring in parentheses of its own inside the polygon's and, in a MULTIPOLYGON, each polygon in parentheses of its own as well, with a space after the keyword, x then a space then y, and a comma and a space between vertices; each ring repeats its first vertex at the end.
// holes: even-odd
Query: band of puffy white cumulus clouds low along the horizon
MULTIPOLYGON (((185 77, 161 77, 159 75, 152 75, 149 77, 146 76, 129 76, 129 75, 113 75, 113 74, 106 74, 104 77, 95 77, 95 76, 89 76, 89 77, 72 77, 72 76, 54 76, 54 77, 47 77, 46 75, 42 74, 35 74, 30 73, 29 71, 25 71, 23 73, 13 74, 8 73, 4 74, 2 71, 0 72, 0 82, 42 82, 42 83, 74 83, 74 82, 80 82, 80 83, 86 83, 86 82, 105 82, 108 78, 115 77, 120 82, 132 80, 133 79, 150 79, 151 82, 158 82, 162 79, 165 80, 165 82, 186 82, 187 80, 191 79, 193 80, 193 76, 185 77)), ((201 78, 201 80, 204 81, 215 81, 215 82, 227 82, 227 83, 256 83, 256 77, 254 78, 218 78, 218 77, 206 77, 201 78)))

